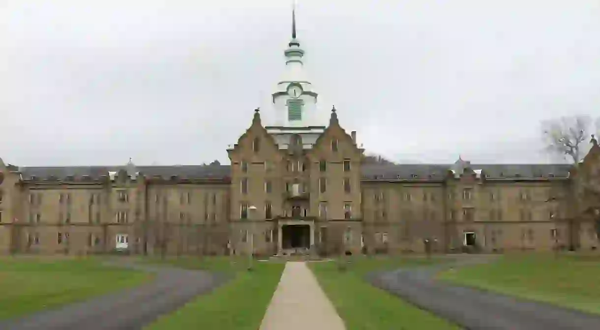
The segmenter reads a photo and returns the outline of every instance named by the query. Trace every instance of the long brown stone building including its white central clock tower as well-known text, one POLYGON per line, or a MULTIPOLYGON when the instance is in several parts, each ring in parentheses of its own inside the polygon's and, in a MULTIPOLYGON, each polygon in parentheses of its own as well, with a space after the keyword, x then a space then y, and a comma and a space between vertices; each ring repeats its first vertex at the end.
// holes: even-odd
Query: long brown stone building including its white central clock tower
MULTIPOLYGON (((600 148, 583 163, 374 164, 317 92, 296 38, 231 164, 18 167, 0 160, 0 253, 322 254, 595 249, 600 148), (596 187, 596 188, 593 188, 596 187)), ((250 113, 249 113, 250 117, 250 113)), ((250 119, 250 118, 248 118, 250 119)))

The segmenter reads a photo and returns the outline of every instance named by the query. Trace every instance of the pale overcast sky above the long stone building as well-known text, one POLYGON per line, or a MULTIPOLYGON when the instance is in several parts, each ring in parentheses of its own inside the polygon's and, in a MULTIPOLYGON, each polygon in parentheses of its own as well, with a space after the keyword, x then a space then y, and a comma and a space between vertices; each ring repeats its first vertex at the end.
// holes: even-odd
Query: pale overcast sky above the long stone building
MULTIPOLYGON (((0 0, 0 157, 228 163, 274 122, 291 0, 0 0)), ((540 121, 600 116, 600 1, 299 0, 323 116, 396 161, 550 161, 540 121)), ((325 123, 324 123, 325 124, 325 123)))

